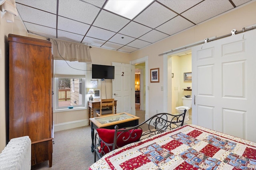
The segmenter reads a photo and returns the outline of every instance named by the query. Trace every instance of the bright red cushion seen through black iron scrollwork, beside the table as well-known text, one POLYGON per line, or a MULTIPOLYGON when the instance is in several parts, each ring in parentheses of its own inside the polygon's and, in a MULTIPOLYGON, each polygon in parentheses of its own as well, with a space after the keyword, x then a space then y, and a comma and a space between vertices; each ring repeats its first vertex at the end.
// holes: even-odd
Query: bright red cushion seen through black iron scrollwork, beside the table
MULTIPOLYGON (((100 137, 100 139, 102 139, 102 141, 104 141, 105 143, 114 143, 114 134, 115 134, 115 129, 104 129, 104 128, 99 128, 96 129, 98 132, 98 135, 100 137)), ((142 129, 134 129, 134 131, 132 132, 133 129, 125 132, 118 132, 117 133, 117 137, 118 135, 120 135, 120 133, 122 133, 117 141, 116 141, 116 146, 118 147, 123 147, 124 145, 127 145, 129 143, 133 143, 136 142, 140 139, 141 135, 142 135, 142 129), (128 139, 130 133, 132 132, 131 137, 128 139), (127 141, 123 141, 122 139, 128 139, 127 141)), ((101 143, 101 148, 104 147, 104 144, 101 143)), ((115 149, 117 149, 118 147, 116 147, 115 149)), ((110 150, 108 150, 107 147, 104 147, 103 151, 106 153, 110 152, 112 150, 112 147, 109 147, 110 150)), ((101 152, 101 150, 99 150, 99 152, 101 152)))

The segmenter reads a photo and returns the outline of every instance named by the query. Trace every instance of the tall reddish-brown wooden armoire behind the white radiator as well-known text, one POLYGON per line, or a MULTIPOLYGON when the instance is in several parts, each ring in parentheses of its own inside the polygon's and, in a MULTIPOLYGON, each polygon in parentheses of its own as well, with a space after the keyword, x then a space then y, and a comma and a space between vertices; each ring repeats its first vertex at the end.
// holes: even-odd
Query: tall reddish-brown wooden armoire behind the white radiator
POLYGON ((29 136, 31 165, 52 166, 52 44, 8 35, 9 140, 29 136))

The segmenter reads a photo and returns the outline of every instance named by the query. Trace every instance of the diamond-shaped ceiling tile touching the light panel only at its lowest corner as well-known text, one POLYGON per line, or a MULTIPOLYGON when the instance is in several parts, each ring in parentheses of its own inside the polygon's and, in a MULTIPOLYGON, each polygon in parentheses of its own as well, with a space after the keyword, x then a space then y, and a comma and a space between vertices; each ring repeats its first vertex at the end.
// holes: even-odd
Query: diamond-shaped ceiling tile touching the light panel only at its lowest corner
POLYGON ((126 25, 126 27, 124 27, 121 31, 119 31, 119 33, 128 35, 130 37, 138 38, 149 32, 150 30, 152 29, 132 21, 128 23, 128 25, 126 25))

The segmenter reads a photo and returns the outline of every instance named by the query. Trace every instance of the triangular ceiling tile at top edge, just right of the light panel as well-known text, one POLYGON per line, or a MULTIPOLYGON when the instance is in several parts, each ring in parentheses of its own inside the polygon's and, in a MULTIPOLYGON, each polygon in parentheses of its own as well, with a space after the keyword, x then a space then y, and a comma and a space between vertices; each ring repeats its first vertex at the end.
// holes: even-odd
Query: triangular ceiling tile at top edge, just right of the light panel
POLYGON ((160 3, 164 4, 168 8, 174 10, 178 14, 186 11, 202 0, 158 0, 160 3))

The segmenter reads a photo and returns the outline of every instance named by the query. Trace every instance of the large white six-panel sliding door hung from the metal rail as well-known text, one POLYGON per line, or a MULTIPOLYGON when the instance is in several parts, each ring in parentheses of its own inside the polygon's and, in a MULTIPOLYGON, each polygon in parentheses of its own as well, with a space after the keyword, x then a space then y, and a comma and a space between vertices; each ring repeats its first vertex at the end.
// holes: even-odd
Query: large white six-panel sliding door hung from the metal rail
POLYGON ((256 142, 256 30, 192 48, 192 123, 256 142))

